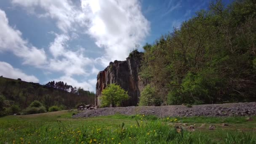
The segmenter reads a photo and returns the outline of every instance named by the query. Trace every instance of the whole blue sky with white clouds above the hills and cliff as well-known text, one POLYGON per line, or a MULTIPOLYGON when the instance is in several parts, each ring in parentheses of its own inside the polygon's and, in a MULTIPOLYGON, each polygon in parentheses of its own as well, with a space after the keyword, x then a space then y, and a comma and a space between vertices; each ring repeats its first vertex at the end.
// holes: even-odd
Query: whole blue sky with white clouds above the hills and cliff
MULTIPOLYGON (((230 0, 223 0, 224 4, 230 0)), ((0 75, 96 91, 97 74, 208 0, 0 0, 0 75)))

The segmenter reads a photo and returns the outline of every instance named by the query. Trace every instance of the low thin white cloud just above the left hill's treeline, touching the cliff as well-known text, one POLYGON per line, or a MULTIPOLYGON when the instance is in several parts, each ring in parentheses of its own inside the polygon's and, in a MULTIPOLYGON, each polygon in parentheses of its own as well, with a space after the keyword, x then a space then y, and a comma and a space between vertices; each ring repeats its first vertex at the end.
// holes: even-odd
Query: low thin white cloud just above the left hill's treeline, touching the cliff
POLYGON ((62 76, 59 77, 57 79, 54 79, 54 81, 63 81, 66 82, 68 85, 72 85, 73 87, 81 87, 84 88, 84 90, 89 90, 89 91, 94 91, 95 92, 95 85, 96 83, 94 83, 95 81, 93 80, 89 80, 88 82, 84 81, 84 82, 78 82, 77 80, 75 80, 73 77, 70 76, 62 76))

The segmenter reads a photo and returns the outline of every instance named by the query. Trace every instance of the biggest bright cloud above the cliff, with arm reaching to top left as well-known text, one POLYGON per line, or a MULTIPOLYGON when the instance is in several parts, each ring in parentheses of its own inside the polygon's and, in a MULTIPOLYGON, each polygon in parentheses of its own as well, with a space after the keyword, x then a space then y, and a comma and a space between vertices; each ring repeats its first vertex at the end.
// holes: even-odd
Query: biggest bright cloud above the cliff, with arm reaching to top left
MULTIPOLYGON (((104 48, 101 59, 124 60, 135 44, 141 43, 149 33, 149 21, 141 13, 139 0, 81 0, 75 5, 70 0, 12 0, 30 10, 43 8, 55 19, 63 32, 84 31, 104 48)), ((106 62, 103 62, 106 66, 106 62)))

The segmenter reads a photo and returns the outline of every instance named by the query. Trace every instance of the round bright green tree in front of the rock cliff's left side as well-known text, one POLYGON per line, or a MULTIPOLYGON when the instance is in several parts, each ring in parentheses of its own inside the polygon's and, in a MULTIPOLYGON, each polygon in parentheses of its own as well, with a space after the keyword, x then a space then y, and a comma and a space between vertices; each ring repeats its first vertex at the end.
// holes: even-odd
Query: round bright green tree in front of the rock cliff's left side
POLYGON ((109 84, 107 88, 102 91, 101 102, 102 107, 120 106, 122 101, 128 100, 127 91, 115 83, 109 84))

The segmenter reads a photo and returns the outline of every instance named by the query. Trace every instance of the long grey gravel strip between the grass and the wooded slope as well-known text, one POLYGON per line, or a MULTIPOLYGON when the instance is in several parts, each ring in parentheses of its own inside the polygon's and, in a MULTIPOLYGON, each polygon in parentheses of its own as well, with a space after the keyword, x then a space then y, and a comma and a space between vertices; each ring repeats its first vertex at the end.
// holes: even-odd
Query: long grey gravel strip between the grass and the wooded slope
POLYGON ((92 110, 83 110, 73 117, 94 117, 103 115, 156 115, 158 117, 167 116, 245 116, 256 115, 256 102, 250 103, 230 103, 230 104, 203 104, 192 107, 187 106, 160 106, 160 107, 109 107, 92 110))

